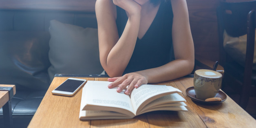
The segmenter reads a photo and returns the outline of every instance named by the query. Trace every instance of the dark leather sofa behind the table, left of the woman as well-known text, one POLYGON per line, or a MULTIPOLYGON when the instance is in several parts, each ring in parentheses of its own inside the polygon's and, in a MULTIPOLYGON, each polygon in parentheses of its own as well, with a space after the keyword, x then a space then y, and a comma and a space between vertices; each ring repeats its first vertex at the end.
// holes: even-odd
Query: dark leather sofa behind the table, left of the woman
POLYGON ((28 126, 51 83, 47 73, 51 65, 50 20, 97 28, 95 13, 0 10, 0 84, 14 84, 17 88, 11 99, 14 127, 28 126))

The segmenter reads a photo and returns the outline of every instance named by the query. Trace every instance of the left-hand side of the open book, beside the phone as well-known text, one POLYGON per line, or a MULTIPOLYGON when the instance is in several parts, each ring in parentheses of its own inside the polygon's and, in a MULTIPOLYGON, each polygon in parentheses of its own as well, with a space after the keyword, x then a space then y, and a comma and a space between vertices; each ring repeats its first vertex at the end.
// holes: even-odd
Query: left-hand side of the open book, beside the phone
POLYGON ((125 109, 135 113, 129 95, 124 94, 124 91, 117 93, 117 88, 108 88, 108 84, 110 83, 104 81, 88 81, 84 87, 86 93, 84 96, 85 99, 82 101, 84 102, 83 110, 100 109, 121 113, 121 111, 124 111, 121 109, 125 109))

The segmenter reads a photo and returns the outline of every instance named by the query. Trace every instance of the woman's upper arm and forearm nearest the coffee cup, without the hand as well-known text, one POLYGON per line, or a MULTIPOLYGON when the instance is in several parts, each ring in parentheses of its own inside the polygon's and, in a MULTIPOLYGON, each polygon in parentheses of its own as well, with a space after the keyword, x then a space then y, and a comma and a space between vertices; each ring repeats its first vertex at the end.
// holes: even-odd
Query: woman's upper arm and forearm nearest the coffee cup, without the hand
POLYGON ((141 71, 142 74, 147 74, 150 83, 188 75, 194 68, 194 43, 190 31, 187 3, 185 0, 171 0, 171 3, 174 15, 172 42, 175 60, 159 68, 141 71))

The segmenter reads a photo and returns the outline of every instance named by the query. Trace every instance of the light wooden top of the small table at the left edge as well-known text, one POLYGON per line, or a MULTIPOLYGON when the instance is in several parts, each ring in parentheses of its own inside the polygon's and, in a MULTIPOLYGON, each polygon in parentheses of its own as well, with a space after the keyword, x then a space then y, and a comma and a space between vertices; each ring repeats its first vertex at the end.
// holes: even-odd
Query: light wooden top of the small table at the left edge
MULTIPOLYGON (((6 85, 0 84, 0 87, 12 87, 13 88, 13 95, 16 94, 15 85, 6 85)), ((4 106, 9 101, 9 93, 8 91, 0 91, 0 108, 4 106)))

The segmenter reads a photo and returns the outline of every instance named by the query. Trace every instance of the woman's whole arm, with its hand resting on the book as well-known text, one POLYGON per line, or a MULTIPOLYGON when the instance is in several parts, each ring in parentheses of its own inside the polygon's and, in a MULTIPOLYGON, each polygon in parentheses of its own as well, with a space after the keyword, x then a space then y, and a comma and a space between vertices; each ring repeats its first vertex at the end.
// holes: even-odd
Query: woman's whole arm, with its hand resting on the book
POLYGON ((172 42, 175 60, 157 68, 151 68, 135 73, 128 73, 123 77, 110 78, 115 81, 109 88, 119 86, 121 92, 126 86, 126 94, 141 84, 157 83, 176 79, 192 72, 194 68, 194 43, 190 31, 188 8, 185 0, 171 0, 173 10, 172 42))

